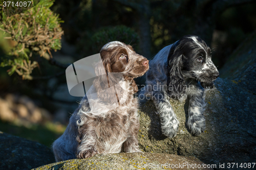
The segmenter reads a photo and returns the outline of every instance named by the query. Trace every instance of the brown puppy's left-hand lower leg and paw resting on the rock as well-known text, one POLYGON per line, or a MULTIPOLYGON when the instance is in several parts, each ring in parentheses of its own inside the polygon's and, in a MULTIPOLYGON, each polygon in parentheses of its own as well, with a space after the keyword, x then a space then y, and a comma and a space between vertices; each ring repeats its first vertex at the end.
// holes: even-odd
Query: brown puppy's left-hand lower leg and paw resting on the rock
MULTIPOLYGON (((81 129, 79 129, 80 131, 81 129)), ((93 129, 84 129, 82 133, 80 133, 77 141, 79 143, 76 157, 79 159, 89 158, 96 154, 99 154, 95 147, 96 143, 96 132, 93 129)))

